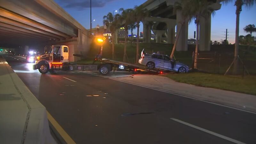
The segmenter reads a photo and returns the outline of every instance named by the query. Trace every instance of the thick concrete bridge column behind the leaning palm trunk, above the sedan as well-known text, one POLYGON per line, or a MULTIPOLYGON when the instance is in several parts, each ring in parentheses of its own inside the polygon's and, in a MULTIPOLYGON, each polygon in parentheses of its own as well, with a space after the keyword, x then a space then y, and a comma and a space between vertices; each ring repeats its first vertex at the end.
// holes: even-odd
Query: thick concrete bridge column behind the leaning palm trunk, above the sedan
POLYGON ((176 51, 188 51, 188 21, 181 25, 182 18, 181 11, 177 10, 177 34, 180 32, 180 36, 177 42, 176 51))

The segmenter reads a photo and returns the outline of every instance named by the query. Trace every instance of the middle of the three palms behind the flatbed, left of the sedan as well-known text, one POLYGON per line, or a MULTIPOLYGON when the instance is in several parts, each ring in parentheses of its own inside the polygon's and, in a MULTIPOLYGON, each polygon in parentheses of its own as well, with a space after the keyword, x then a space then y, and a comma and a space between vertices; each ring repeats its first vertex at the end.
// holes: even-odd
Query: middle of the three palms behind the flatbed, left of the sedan
POLYGON ((128 37, 128 25, 131 23, 132 18, 131 18, 131 13, 132 13, 132 9, 124 9, 124 8, 120 8, 119 12, 121 13, 121 17, 120 17, 120 21, 122 23, 122 25, 124 26, 125 29, 125 37, 124 37, 124 57, 123 57, 123 61, 126 61, 126 47, 127 47, 127 37, 128 37))

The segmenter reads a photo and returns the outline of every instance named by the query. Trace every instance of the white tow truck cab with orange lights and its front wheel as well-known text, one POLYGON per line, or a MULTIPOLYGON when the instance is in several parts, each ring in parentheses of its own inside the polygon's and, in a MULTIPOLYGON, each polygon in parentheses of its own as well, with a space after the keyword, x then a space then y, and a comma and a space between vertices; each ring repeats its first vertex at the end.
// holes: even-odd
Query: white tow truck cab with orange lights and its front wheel
POLYGON ((36 64, 33 65, 33 69, 38 69, 40 73, 46 74, 56 67, 62 67, 63 64, 68 63, 68 51, 66 45, 44 47, 44 55, 36 57, 36 64))

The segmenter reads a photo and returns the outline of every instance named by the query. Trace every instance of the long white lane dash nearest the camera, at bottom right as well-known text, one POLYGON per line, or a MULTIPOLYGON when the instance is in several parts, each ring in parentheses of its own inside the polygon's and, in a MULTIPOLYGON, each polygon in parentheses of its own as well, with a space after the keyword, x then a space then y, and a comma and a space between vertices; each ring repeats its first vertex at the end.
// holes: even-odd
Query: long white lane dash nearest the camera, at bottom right
POLYGON ((187 125, 187 126, 193 127, 193 128, 198 129, 198 130, 200 130, 200 131, 203 131, 203 132, 206 132, 206 133, 215 135, 215 136, 220 137, 220 138, 222 138, 222 139, 225 139, 225 140, 228 140, 228 141, 237 143, 237 144, 245 144, 245 143, 243 143, 243 142, 241 142, 241 141, 231 139, 231 138, 226 137, 226 136, 224 136, 224 135, 221 135, 221 134, 218 134, 218 133, 215 133, 215 132, 212 132, 212 131, 203 129, 203 128, 198 127, 198 126, 195 126, 195 125, 193 125, 193 124, 189 124, 189 123, 183 122, 183 121, 178 120, 178 119, 175 119, 175 118, 170 118, 170 119, 171 119, 171 120, 174 120, 174 121, 176 121, 176 122, 179 122, 179 123, 181 123, 181 124, 185 124, 185 125, 187 125))

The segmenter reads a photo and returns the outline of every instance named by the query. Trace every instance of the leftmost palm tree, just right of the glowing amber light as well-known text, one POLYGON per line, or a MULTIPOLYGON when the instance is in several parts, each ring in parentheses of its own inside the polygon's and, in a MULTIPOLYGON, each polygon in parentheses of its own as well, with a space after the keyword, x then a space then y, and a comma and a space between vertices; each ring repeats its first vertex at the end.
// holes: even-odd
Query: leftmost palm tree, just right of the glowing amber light
POLYGON ((113 15, 111 12, 108 12, 107 16, 103 17, 103 24, 109 27, 109 30, 111 31, 112 35, 112 60, 115 59, 115 32, 116 28, 119 27, 120 22, 119 22, 120 14, 116 14, 113 18, 113 15))

